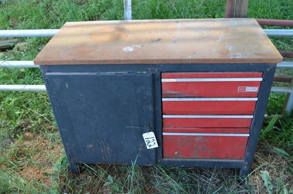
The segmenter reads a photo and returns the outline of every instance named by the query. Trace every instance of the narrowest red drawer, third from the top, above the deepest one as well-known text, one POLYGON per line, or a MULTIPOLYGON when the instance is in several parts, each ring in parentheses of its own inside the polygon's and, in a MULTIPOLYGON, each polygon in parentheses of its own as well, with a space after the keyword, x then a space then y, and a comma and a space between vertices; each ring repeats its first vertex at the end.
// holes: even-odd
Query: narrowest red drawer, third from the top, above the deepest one
POLYGON ((253 115, 163 115, 163 127, 250 127, 253 115))

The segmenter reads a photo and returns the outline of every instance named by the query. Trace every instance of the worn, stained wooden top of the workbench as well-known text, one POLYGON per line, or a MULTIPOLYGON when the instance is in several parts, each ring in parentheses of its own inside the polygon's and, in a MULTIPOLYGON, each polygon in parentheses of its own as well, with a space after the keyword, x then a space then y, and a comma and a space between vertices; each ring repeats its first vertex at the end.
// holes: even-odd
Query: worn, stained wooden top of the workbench
POLYGON ((35 65, 279 63, 253 18, 66 22, 35 65))

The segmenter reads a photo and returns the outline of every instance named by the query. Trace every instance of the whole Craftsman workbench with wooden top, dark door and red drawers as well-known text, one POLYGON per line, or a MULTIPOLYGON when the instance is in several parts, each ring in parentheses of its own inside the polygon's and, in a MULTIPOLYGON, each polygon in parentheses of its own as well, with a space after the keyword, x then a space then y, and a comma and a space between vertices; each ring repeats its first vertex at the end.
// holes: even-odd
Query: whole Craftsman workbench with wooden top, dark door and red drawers
POLYGON ((250 172, 280 60, 254 19, 206 19, 69 22, 34 62, 73 174, 79 163, 136 161, 240 168, 242 175, 250 172), (254 44, 271 54, 248 48, 254 44), (148 132, 157 148, 147 148, 148 132))

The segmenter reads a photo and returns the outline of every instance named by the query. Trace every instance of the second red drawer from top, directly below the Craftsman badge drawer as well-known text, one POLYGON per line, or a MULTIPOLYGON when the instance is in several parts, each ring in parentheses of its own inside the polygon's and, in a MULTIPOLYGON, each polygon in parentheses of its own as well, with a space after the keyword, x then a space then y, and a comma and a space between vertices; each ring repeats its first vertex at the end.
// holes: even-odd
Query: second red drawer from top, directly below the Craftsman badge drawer
POLYGON ((258 98, 163 98, 164 115, 252 115, 258 98))

